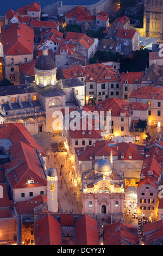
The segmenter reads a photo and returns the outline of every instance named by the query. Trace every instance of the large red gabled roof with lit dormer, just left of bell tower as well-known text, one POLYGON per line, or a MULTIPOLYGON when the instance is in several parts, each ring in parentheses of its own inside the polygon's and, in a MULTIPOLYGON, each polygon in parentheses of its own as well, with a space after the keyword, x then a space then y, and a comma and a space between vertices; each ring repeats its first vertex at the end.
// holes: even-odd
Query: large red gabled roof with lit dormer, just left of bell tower
POLYGON ((36 150, 29 144, 18 142, 10 146, 13 161, 5 164, 12 188, 46 186, 46 176, 36 150), (14 172, 11 169, 15 167, 14 172), (28 180, 34 180, 28 184, 28 180))

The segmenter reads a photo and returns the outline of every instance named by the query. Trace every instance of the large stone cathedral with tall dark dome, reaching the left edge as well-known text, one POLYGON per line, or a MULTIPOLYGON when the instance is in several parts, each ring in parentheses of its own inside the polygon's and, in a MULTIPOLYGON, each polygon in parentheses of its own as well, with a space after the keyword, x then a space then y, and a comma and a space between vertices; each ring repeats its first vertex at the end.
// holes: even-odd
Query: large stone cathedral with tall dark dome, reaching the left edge
POLYGON ((66 105, 66 89, 56 79, 57 67, 46 45, 34 71, 33 83, 0 87, 0 124, 22 123, 32 135, 58 130, 59 122, 55 124, 53 113, 66 105))

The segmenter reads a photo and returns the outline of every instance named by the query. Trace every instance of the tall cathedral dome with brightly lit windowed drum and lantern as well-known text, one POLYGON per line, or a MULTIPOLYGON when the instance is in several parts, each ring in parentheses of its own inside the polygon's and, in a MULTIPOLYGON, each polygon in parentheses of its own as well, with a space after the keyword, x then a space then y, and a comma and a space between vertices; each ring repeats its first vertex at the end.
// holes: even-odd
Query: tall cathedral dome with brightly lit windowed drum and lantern
POLYGON ((46 45, 43 46, 42 55, 36 60, 34 70, 37 86, 55 86, 57 67, 54 59, 49 56, 46 45))

